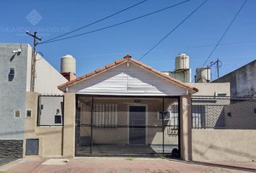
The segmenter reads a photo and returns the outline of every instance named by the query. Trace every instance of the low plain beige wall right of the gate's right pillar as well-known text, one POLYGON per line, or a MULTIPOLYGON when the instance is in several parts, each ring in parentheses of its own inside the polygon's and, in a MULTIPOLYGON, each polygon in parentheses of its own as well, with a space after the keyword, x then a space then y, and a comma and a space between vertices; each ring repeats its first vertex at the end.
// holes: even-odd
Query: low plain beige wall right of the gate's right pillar
POLYGON ((195 161, 252 161, 256 159, 256 130, 192 129, 195 161))

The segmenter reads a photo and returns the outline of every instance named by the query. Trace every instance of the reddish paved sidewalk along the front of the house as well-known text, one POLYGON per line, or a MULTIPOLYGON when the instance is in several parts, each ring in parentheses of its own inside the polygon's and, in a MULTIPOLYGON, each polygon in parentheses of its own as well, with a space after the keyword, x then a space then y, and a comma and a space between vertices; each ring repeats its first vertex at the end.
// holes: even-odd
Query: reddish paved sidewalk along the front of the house
MULTIPOLYGON (((244 164, 247 165, 247 164, 244 164)), ((250 164, 255 167, 255 164, 250 164)), ((230 168, 213 167, 202 164, 151 158, 121 157, 85 157, 76 159, 18 159, 0 167, 0 172, 15 173, 111 173, 111 172, 145 172, 145 173, 222 173, 222 172, 255 172, 230 168)))

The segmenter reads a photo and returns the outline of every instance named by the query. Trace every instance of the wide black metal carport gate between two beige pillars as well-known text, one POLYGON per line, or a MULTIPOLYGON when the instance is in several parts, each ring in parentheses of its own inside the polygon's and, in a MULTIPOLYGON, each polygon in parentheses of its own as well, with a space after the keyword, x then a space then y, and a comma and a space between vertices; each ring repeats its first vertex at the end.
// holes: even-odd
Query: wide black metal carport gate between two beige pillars
POLYGON ((179 157, 178 97, 76 96, 75 155, 179 157))

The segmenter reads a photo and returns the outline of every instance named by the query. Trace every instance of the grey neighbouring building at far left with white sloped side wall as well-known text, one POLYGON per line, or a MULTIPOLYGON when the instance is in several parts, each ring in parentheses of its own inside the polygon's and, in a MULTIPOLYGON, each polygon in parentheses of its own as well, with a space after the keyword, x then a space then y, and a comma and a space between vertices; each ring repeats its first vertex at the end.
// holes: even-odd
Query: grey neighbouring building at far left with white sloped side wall
MULTIPOLYGON (((22 156, 24 123, 34 112, 26 110, 26 92, 31 91, 32 48, 28 44, 0 44, 0 157, 22 156)), ((37 55, 35 92, 61 94, 66 82, 59 71, 37 55)))

